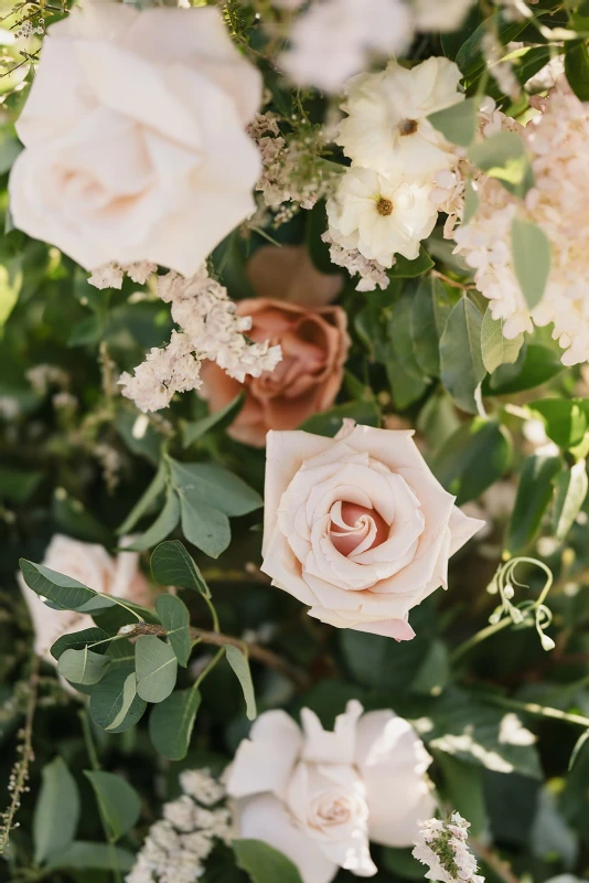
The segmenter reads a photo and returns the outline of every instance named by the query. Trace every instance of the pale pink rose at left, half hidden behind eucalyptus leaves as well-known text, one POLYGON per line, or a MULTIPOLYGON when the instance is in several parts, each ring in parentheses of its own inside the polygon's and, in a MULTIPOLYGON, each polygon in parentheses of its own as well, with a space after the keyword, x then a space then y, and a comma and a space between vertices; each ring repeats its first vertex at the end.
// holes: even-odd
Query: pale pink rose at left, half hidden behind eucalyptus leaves
MULTIPOLYGON (((81 543, 56 533, 45 550, 42 564, 51 571, 77 579, 95 592, 126 598, 136 604, 149 604, 151 592, 148 581, 139 571, 137 552, 119 552, 113 558, 101 545, 81 543)), ((33 623, 35 653, 45 662, 56 666, 50 652, 52 645, 63 635, 92 628, 94 620, 88 614, 47 607, 29 588, 21 574, 19 583, 33 623)))

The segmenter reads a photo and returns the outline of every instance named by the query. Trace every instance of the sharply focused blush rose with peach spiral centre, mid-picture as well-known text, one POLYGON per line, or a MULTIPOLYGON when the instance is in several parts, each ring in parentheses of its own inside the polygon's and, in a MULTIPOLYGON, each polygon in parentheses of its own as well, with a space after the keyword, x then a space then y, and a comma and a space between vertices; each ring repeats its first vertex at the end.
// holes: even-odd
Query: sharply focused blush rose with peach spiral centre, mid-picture
POLYGON ((268 433, 261 570, 323 623, 413 638, 409 610, 447 587, 448 558, 484 524, 411 436, 352 421, 335 438, 268 433))

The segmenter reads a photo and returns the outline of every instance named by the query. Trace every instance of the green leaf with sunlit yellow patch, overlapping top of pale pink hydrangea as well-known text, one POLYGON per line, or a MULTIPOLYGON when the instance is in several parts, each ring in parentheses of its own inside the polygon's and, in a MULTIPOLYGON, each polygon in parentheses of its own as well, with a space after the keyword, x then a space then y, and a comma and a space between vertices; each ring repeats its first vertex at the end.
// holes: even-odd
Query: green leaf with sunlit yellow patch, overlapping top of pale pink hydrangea
POLYGON ((472 145, 469 159, 515 196, 525 196, 534 187, 534 171, 524 142, 514 131, 500 131, 472 145))

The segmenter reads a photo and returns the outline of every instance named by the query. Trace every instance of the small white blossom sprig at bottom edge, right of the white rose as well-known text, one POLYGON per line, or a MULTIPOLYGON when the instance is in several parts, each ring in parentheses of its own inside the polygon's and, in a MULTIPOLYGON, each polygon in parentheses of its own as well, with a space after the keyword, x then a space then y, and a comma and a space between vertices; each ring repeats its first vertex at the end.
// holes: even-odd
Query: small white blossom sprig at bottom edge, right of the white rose
POLYGON ((452 812, 450 821, 428 819, 419 826, 419 839, 413 854, 421 864, 428 865, 428 880, 484 883, 484 876, 476 873, 476 859, 468 844, 470 822, 459 812, 452 812))

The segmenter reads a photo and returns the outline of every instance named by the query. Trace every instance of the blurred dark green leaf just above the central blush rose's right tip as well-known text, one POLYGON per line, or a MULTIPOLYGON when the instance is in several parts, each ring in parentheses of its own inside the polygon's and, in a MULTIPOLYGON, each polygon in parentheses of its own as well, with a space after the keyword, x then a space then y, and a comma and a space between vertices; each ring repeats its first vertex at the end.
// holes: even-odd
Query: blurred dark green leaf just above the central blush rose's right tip
POLYGON ((512 442, 494 421, 474 417, 450 436, 431 464, 431 470, 457 506, 474 500, 510 468, 512 442))

